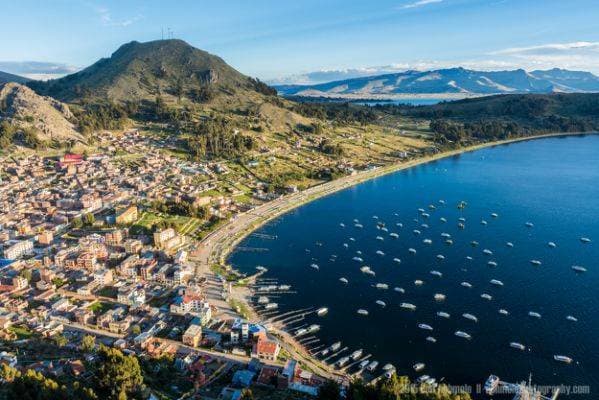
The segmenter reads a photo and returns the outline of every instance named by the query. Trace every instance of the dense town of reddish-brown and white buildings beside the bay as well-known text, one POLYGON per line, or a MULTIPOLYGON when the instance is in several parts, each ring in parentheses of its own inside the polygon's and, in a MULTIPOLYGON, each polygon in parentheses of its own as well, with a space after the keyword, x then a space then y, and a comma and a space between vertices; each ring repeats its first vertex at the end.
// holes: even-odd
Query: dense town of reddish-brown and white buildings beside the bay
MULTIPOLYGON (((78 348, 91 336, 140 357, 167 355, 179 377, 164 389, 172 395, 209 386, 235 399, 251 385, 315 395, 324 377, 303 369, 266 326, 245 320, 225 279, 194 262, 205 221, 249 207, 207 194, 226 167, 165 155, 153 140, 137 130, 105 133, 97 154, 3 160, 0 339, 78 348), (193 211, 177 216, 156 203, 193 211)), ((0 358, 85 376, 82 360, 65 354, 0 358)))

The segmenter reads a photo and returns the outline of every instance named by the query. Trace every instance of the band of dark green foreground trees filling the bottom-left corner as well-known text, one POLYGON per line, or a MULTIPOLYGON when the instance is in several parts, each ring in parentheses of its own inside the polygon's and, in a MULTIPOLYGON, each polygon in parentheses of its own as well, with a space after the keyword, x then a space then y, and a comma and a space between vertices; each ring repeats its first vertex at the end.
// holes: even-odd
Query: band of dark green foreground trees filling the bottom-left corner
POLYGON ((100 345, 89 365, 92 378, 80 382, 56 381, 34 370, 20 372, 0 366, 0 398, 22 400, 127 400, 141 399, 143 376, 137 357, 100 345))

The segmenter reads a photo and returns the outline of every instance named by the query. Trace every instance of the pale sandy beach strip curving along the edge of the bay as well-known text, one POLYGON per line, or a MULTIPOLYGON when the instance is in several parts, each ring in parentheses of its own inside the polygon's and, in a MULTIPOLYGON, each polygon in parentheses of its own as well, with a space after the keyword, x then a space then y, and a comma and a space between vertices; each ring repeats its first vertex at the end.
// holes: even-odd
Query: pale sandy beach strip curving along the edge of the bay
MULTIPOLYGON (((292 211, 304 204, 307 204, 313 200, 334 194, 343 189, 350 188, 357 184, 366 182, 368 180, 378 178, 384 175, 388 175, 394 172, 406 170, 412 167, 423 165, 437 160, 442 160, 448 157, 453 157, 463 153, 470 153, 473 151, 491 148, 511 143, 524 142, 529 140, 537 140, 552 137, 567 137, 567 136, 580 136, 580 135, 593 135, 598 132, 571 132, 571 133, 548 133, 535 136, 518 137, 513 139, 506 139, 501 141, 480 143, 473 146, 468 146, 460 149, 444 151, 431 156, 424 156, 409 160, 407 162, 398 162, 383 167, 376 168, 374 170, 362 171, 355 175, 344 176, 334 181, 322 183, 320 185, 312 186, 304 191, 297 192, 291 195, 282 196, 278 199, 262 204, 247 213, 240 214, 237 218, 230 220, 226 224, 222 225, 217 230, 211 232, 201 242, 198 249, 199 257, 198 262, 203 263, 205 268, 210 268, 214 264, 224 266, 228 270, 232 270, 232 266, 226 265, 226 259, 234 248, 247 236, 251 235, 255 230, 266 224, 267 222, 292 211)), ((236 289, 232 289, 231 295, 233 295, 236 289)), ((253 316, 259 314, 253 308, 248 301, 248 293, 237 292, 237 299, 242 299, 246 307, 251 310, 253 316)), ((256 321, 254 321, 256 322, 256 321)), ((286 334, 281 329, 276 329, 277 336, 280 337, 281 345, 285 347, 290 354, 295 353, 296 358, 299 355, 300 359, 306 362, 310 367, 315 370, 326 372, 328 377, 343 376, 343 372, 335 371, 329 366, 323 365, 323 363, 312 357, 304 346, 293 340, 289 334, 286 334)))

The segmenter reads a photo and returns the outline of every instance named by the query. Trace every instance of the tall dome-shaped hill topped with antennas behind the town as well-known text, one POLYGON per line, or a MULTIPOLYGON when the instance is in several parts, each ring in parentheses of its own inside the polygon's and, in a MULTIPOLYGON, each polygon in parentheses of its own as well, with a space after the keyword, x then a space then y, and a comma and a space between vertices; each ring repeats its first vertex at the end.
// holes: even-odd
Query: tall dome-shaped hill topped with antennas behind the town
POLYGON ((154 100, 159 95, 206 101, 206 97, 261 90, 259 82, 221 58, 176 39, 130 42, 77 73, 29 85, 66 102, 154 100))

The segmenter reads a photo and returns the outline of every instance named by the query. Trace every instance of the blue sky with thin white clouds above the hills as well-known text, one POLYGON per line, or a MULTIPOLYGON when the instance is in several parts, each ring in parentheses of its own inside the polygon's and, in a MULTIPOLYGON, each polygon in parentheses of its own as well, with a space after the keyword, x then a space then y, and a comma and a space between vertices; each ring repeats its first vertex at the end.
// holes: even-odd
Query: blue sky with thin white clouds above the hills
POLYGON ((0 1, 0 70, 29 75, 64 68, 15 62, 81 68, 163 28, 266 80, 456 65, 599 73, 596 0, 0 1))

